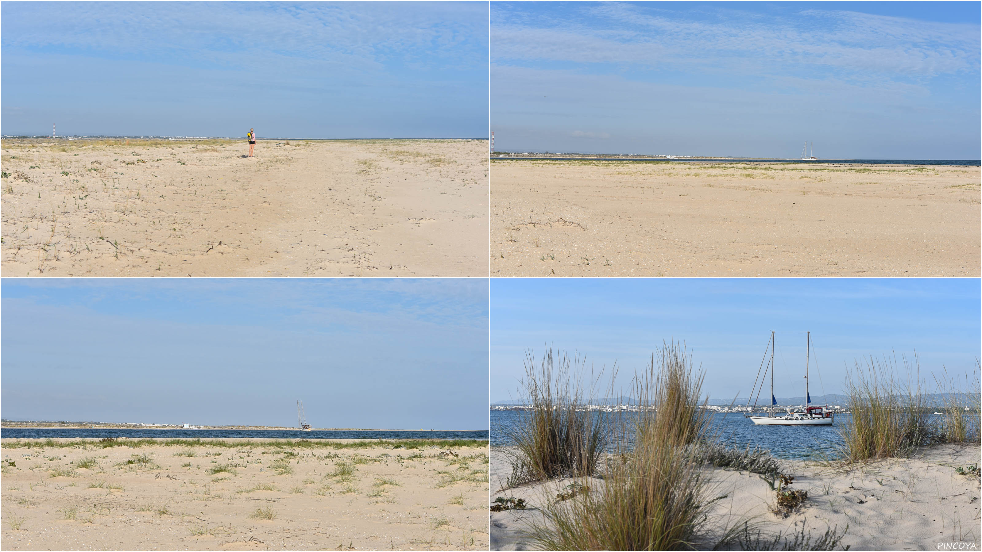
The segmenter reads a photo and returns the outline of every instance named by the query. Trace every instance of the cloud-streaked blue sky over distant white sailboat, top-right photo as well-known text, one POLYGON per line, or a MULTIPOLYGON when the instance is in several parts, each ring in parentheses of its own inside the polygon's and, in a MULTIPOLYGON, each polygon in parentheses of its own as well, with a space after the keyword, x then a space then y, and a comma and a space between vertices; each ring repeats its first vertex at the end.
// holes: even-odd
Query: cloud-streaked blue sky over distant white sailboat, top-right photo
POLYGON ((494 2, 496 149, 977 159, 979 2, 494 2))

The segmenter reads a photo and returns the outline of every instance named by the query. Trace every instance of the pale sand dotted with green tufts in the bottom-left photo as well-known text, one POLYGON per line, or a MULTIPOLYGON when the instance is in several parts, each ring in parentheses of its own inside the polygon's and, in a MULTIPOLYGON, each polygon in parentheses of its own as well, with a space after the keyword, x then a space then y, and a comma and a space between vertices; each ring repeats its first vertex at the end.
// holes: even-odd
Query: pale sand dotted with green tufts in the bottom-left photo
POLYGON ((238 448, 190 449, 27 449, 11 448, 11 441, 2 447, 4 460, 16 464, 3 463, 4 550, 488 547, 483 447, 441 457, 448 449, 277 448, 246 439, 238 448), (174 456, 186 451, 196 456, 174 456), (151 464, 140 464, 138 455, 151 464), (83 458, 98 464, 79 469, 83 458), (238 465, 231 473, 209 474, 230 463, 238 465), (342 463, 355 468, 350 480, 329 475, 342 463), (277 474, 278 466, 293 472, 277 474), (52 469, 74 473, 52 476, 52 469), (452 478, 461 480, 448 484, 452 478), (254 517, 259 509, 272 509, 275 519, 254 517), (24 523, 13 529, 17 519, 24 523))

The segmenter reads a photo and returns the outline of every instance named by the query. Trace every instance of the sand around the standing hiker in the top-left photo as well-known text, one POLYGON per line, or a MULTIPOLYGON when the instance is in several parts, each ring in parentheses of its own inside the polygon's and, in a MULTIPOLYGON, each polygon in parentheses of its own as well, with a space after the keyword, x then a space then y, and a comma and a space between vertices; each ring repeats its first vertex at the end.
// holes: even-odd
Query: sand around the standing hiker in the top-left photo
POLYGON ((118 142, 3 140, 4 276, 487 276, 486 140, 118 142))

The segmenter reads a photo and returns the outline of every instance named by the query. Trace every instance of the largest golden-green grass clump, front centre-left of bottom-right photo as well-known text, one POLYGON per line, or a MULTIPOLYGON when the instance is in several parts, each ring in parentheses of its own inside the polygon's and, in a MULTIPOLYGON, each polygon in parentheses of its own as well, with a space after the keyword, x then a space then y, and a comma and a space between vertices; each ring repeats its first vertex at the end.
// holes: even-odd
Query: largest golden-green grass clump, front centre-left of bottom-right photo
POLYGON ((572 500, 542 506, 531 531, 545 550, 682 550, 712 547, 712 504, 692 445, 703 439, 709 414, 699 408, 702 374, 682 345, 666 345, 634 379, 640 410, 619 428, 597 487, 572 500), (631 431, 632 430, 632 431, 631 431))

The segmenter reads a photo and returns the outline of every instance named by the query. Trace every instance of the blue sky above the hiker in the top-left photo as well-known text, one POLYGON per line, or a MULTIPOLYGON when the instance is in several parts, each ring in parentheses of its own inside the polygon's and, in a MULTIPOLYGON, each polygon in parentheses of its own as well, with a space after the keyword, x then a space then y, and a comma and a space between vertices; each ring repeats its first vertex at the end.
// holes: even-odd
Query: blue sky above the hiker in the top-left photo
POLYGON ((480 138, 486 2, 3 2, 4 134, 480 138))

